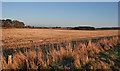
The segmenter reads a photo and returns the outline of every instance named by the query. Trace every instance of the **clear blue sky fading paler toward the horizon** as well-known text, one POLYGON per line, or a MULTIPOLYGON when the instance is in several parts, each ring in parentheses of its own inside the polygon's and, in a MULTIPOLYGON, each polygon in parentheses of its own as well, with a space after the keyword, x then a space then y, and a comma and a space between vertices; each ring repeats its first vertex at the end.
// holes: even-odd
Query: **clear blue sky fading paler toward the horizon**
POLYGON ((2 18, 48 27, 118 26, 117 2, 3 2, 2 18))

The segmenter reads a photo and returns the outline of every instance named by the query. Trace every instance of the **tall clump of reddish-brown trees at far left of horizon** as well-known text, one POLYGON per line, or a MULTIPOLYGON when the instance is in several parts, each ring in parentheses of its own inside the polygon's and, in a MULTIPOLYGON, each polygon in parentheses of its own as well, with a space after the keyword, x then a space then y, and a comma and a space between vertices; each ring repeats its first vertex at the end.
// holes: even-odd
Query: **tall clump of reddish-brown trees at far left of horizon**
POLYGON ((1 26, 3 28, 24 28, 25 24, 18 20, 11 20, 11 19, 3 19, 0 20, 1 26))

